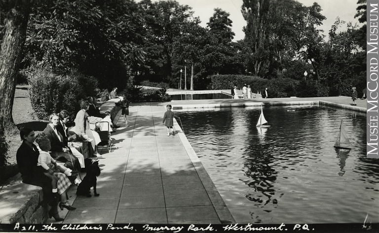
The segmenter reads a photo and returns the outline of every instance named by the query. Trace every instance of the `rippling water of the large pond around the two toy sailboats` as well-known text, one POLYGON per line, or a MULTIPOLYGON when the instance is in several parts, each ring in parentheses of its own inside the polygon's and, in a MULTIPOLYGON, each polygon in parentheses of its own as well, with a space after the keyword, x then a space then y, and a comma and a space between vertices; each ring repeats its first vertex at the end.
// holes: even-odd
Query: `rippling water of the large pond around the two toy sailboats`
POLYGON ((181 112, 183 128, 237 223, 379 222, 379 163, 366 114, 318 106, 181 112), (341 120, 352 150, 336 150, 341 120))

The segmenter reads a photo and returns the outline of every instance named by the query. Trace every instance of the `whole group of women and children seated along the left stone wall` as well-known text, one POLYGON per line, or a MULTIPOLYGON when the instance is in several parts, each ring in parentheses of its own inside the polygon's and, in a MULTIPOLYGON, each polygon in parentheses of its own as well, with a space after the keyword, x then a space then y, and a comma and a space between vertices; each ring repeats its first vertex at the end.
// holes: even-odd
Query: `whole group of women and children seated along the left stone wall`
POLYGON ((76 113, 75 126, 71 114, 62 110, 49 116, 49 123, 38 135, 31 128, 20 130, 22 144, 16 159, 23 183, 42 187, 44 200, 51 206, 49 218, 54 217, 56 221, 63 221, 59 217, 58 206, 61 210, 76 209, 68 203, 66 192, 72 184, 80 184, 80 170, 85 167, 84 156, 74 147, 75 143, 90 143, 89 155, 96 157, 97 144, 101 140, 94 123, 101 127, 100 130, 110 133, 115 126, 111 113, 100 114, 94 101, 97 99, 93 97, 79 98, 80 109, 76 113))

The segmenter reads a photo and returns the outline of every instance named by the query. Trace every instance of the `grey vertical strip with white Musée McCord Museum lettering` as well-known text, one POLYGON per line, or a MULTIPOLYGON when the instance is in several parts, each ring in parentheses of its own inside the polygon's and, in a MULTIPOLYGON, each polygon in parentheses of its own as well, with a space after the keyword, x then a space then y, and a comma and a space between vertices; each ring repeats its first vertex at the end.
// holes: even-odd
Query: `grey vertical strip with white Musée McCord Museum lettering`
POLYGON ((378 154, 379 0, 367 0, 367 157, 378 154))

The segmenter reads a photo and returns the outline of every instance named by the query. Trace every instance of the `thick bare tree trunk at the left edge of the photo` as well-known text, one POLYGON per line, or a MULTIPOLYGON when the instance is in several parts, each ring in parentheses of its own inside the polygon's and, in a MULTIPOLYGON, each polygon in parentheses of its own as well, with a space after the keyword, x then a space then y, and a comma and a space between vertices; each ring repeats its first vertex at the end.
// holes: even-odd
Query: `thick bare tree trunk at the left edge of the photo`
POLYGON ((0 51, 0 116, 4 117, 3 126, 6 133, 16 128, 12 107, 16 77, 22 58, 22 49, 26 39, 30 0, 16 1, 8 11, 5 33, 0 51))

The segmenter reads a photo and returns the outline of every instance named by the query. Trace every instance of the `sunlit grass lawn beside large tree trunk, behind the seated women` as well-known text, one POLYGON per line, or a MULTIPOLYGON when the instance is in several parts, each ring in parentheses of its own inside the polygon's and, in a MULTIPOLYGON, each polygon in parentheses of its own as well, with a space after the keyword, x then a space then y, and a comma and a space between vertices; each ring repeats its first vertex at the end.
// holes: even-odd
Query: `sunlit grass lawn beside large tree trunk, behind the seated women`
MULTIPOLYGON (((17 85, 14 94, 12 116, 18 129, 29 127, 36 132, 43 131, 48 120, 39 120, 34 116, 34 111, 29 99, 28 85, 17 85)), ((21 145, 20 134, 7 135, 9 151, 7 161, 10 163, 0 173, 0 183, 18 173, 16 152, 21 145)))

